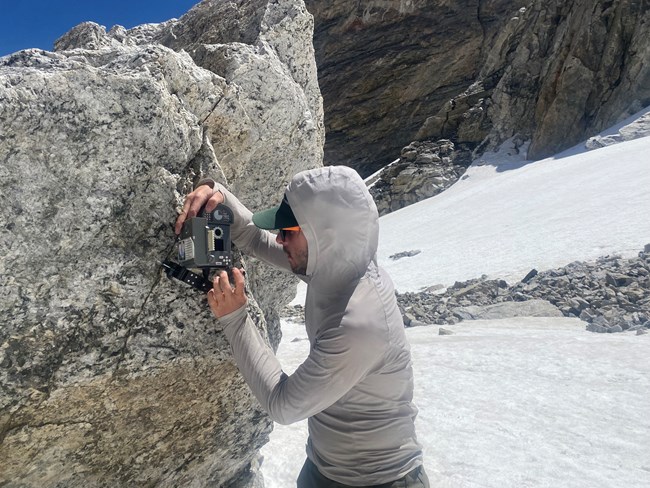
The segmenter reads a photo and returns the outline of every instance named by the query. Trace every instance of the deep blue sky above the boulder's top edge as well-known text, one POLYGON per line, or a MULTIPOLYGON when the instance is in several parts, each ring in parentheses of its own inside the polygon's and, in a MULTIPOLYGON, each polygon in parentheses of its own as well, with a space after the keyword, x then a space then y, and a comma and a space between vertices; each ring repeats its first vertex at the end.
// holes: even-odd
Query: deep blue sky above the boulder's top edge
POLYGON ((199 0, 0 0, 0 56, 54 41, 87 20, 110 29, 178 18, 199 0))

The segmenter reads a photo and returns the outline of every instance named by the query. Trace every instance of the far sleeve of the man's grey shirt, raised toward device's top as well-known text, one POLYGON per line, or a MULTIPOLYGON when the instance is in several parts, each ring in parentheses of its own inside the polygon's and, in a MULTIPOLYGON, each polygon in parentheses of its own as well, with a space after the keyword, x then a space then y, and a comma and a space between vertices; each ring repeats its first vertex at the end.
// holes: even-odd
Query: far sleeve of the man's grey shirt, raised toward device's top
POLYGON ((279 268, 291 271, 289 260, 277 242, 275 235, 267 230, 259 229, 253 224, 253 212, 248 210, 237 197, 220 183, 211 179, 201 180, 197 186, 209 185, 221 192, 224 203, 233 211, 234 222, 230 227, 233 242, 249 256, 254 256, 279 268))

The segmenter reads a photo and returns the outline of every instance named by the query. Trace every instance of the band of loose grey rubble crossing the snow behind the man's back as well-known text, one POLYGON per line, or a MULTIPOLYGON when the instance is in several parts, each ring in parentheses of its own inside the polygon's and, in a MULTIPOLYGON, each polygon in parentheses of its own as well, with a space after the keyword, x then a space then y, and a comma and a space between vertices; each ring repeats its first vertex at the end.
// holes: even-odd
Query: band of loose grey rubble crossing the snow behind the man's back
POLYGON ((529 273, 508 285, 487 277, 455 283, 444 291, 398 293, 410 321, 453 324, 459 320, 517 316, 579 317, 593 332, 650 328, 650 253, 529 273))

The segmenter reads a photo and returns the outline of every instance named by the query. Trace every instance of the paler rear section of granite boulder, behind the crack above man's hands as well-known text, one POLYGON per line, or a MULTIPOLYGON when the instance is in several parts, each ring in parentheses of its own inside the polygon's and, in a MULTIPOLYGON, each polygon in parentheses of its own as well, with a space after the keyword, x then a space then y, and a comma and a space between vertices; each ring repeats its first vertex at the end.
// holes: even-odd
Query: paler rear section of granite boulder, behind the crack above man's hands
POLYGON ((178 20, 128 31, 81 24, 56 49, 162 44, 223 77, 228 96, 201 122, 232 190, 256 209, 284 193, 269 180, 288 182, 322 161, 312 32, 312 16, 298 0, 205 0, 178 20))

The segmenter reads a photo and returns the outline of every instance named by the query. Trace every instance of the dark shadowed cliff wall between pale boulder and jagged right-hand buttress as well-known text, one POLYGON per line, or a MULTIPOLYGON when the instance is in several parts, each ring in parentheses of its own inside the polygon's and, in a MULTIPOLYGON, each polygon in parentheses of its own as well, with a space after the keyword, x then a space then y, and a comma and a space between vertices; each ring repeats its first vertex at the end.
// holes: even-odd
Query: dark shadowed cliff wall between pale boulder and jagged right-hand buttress
POLYGON ((306 4, 315 20, 325 164, 347 164, 367 176, 475 80, 488 46, 527 2, 306 4))

